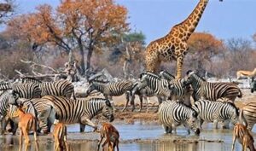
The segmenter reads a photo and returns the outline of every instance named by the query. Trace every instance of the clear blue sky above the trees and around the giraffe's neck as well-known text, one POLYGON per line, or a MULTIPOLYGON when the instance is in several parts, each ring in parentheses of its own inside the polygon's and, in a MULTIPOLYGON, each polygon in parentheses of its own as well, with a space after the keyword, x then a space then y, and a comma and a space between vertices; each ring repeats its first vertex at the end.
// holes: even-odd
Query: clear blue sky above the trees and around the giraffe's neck
MULTIPOLYGON (((129 11, 131 29, 142 31, 147 44, 166 35, 184 20, 199 0, 116 0, 129 11)), ((19 12, 32 12, 38 4, 57 6, 59 0, 16 0, 19 12)), ((256 0, 209 0, 196 32, 211 32, 217 38, 252 39, 256 32, 256 0)))

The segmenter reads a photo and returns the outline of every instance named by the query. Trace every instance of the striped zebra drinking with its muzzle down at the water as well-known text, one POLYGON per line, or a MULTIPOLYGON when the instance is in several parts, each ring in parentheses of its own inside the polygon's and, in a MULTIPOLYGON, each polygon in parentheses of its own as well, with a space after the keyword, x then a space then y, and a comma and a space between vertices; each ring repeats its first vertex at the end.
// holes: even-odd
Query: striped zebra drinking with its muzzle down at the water
POLYGON ((190 129, 195 131, 195 135, 200 134, 197 113, 191 107, 184 105, 182 102, 166 101, 162 102, 159 107, 158 116, 166 133, 176 132, 178 125, 184 125, 190 134, 190 129))

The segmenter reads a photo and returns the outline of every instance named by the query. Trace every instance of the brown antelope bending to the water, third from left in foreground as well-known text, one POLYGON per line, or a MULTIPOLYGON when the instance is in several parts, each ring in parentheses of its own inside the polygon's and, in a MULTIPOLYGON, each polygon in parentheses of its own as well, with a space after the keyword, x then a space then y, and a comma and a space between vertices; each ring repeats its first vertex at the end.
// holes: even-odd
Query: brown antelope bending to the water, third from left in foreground
POLYGON ((102 151, 104 151, 104 147, 107 143, 108 143, 108 150, 114 151, 114 148, 116 146, 117 151, 119 151, 119 131, 117 131, 116 128, 113 127, 113 125, 108 123, 103 123, 100 133, 101 133, 101 140, 98 143, 98 151, 100 150, 100 146, 104 137, 106 138, 106 140, 102 144, 102 151), (113 144, 111 142, 113 142, 113 144))

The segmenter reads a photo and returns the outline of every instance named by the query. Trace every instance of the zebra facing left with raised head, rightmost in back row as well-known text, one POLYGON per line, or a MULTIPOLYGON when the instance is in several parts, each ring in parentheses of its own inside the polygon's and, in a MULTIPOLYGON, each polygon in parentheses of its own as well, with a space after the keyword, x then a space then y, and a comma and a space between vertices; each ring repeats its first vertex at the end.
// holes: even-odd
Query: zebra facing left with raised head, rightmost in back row
POLYGON ((242 96, 241 90, 236 84, 210 83, 192 71, 187 72, 187 78, 185 78, 183 84, 191 84, 195 94, 193 95, 195 101, 200 98, 209 101, 216 101, 218 98, 226 97, 232 102, 235 102, 236 96, 242 96))

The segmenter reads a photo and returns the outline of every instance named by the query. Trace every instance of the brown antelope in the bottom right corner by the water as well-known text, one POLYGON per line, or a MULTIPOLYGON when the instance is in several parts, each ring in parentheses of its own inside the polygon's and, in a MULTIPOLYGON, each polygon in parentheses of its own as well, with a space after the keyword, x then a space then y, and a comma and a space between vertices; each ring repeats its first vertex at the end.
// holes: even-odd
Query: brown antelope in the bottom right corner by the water
POLYGON ((232 151, 234 151, 236 138, 238 138, 238 142, 242 145, 242 151, 246 151, 247 148, 249 148, 250 151, 256 151, 253 145, 253 136, 247 130, 245 125, 236 124, 234 127, 232 151))

